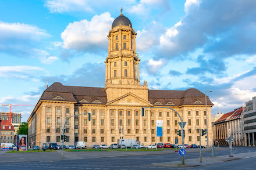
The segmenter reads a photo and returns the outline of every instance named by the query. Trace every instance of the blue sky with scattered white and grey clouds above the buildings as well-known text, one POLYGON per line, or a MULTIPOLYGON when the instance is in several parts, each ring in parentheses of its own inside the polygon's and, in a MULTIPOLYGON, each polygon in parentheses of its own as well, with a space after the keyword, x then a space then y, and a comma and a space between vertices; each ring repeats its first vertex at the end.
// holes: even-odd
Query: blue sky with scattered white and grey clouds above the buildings
MULTIPOLYGON (((256 96, 255 0, 0 0, 2 104, 35 105, 48 84, 105 85, 108 31, 120 15, 137 32, 149 89, 207 92, 211 113, 256 96)), ((13 106, 27 121, 33 106, 13 106)))

